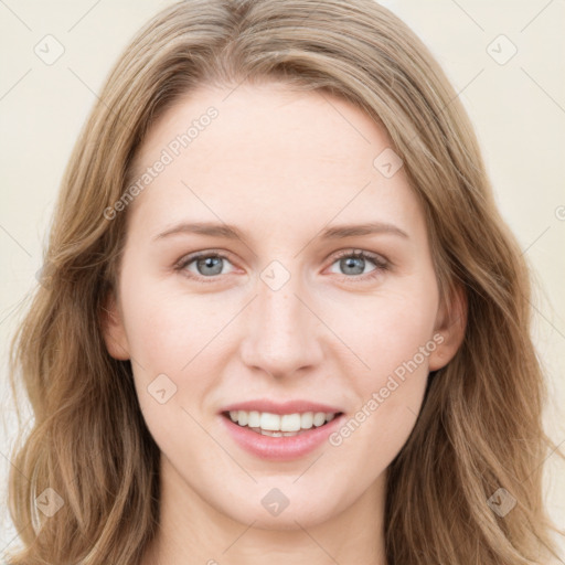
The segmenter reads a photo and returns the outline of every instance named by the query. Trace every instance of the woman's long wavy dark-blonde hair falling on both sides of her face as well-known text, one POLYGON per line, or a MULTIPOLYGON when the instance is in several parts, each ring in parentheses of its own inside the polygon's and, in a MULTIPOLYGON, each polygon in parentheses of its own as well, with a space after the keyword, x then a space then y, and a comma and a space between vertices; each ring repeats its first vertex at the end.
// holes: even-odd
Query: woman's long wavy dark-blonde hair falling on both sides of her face
POLYGON ((159 12, 124 51, 62 181, 42 285, 12 341, 12 391, 24 385, 34 424, 11 457, 9 507, 23 550, 10 565, 134 565, 154 535, 160 452, 130 364, 109 356, 100 331, 128 211, 111 221, 104 211, 127 190, 148 129, 180 96, 268 79, 341 96, 386 129, 424 205, 441 299, 457 287, 467 297, 463 342, 429 375, 390 467, 388 563, 546 563, 556 548, 542 463, 554 446, 542 426, 529 271, 441 68, 373 0, 188 0, 159 12), (35 504, 45 489, 63 501, 50 516, 35 504), (499 489, 516 501, 504 516, 487 502, 499 489))

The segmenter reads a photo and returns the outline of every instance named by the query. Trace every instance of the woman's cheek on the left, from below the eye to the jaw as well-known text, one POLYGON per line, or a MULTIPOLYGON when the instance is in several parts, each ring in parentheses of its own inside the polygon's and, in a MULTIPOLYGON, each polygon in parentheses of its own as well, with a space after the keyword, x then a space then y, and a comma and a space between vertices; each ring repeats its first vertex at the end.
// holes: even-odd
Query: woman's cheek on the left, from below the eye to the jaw
POLYGON ((158 285, 153 288, 139 281, 130 285, 135 290, 122 301, 135 386, 143 417, 163 450, 171 441, 173 429, 180 437, 194 431, 198 443, 201 430, 189 414, 198 412, 209 390, 216 384, 214 375, 221 374, 214 367, 221 355, 210 354, 217 343, 210 342, 225 321, 218 326, 221 317, 209 316, 207 301, 162 292, 158 285))

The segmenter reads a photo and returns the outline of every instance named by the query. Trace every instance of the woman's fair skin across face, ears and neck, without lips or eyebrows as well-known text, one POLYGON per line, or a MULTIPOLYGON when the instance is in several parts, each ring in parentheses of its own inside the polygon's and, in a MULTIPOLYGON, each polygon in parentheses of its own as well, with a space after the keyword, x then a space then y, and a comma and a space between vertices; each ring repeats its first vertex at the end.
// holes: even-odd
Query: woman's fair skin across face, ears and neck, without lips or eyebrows
POLYGON ((439 302, 423 210, 404 168, 387 179, 373 166, 391 142, 370 117, 276 83, 190 93, 149 131, 140 170, 209 106, 218 117, 121 212, 130 214, 127 243, 104 320, 109 354, 131 360, 161 450, 160 531, 143 565, 253 565, 266 555, 274 565, 383 565, 386 469, 414 427, 428 372, 462 339, 439 302), (152 241, 181 221, 225 222, 245 239, 152 241), (407 236, 316 238, 370 221, 407 236), (348 269, 335 257, 356 249, 388 268, 358 259, 348 269), (174 269, 209 250, 228 255, 220 275, 196 262, 174 269), (260 278, 273 260, 290 276, 278 290, 260 278), (222 407, 258 397, 313 399, 352 417, 439 334, 443 343, 340 446, 273 462, 224 430, 222 407), (148 393, 162 373, 177 385, 164 404, 148 393), (289 500, 277 516, 260 503, 273 488, 289 500))

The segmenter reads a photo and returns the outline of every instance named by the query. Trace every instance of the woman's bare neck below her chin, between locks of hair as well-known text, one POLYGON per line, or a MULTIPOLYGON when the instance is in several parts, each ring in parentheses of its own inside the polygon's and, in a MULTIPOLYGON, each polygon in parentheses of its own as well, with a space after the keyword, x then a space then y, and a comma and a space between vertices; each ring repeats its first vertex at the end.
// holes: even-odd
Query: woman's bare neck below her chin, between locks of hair
POLYGON ((287 514, 279 529, 256 527, 253 516, 242 523, 220 512, 163 455, 160 477, 160 526, 140 565, 264 565, 266 556, 269 565, 386 565, 385 472, 328 519, 287 514))

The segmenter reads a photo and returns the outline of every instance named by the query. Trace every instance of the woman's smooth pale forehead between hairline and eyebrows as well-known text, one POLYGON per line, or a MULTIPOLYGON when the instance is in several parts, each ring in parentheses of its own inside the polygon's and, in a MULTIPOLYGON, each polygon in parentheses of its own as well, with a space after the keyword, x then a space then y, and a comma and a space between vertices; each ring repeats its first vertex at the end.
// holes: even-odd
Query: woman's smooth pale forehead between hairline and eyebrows
POLYGON ((318 227, 337 215, 363 222, 392 214, 409 223, 417 205, 404 171, 386 178, 374 166, 390 146, 370 116, 326 93, 278 84, 201 88, 150 129, 136 158, 138 174, 163 152, 169 162, 129 212, 146 226, 186 216, 234 223, 260 216, 288 228, 289 214, 318 227))

